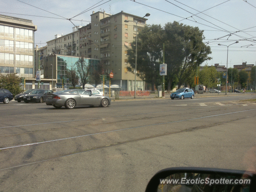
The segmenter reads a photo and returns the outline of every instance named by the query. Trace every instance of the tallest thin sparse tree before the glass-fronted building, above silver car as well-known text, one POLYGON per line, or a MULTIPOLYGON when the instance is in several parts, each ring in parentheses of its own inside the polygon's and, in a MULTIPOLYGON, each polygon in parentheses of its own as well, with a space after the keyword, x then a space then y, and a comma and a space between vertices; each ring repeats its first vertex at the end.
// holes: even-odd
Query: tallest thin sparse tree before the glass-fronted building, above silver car
POLYGON ((80 57, 76 62, 76 71, 81 79, 82 88, 88 83, 88 76, 90 71, 90 64, 84 56, 80 57))

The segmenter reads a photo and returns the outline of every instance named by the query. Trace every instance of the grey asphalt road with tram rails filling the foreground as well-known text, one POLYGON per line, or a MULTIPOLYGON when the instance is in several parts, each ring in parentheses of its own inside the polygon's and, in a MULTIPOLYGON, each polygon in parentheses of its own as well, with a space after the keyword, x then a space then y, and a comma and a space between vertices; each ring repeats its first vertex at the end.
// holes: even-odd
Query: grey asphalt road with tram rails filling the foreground
POLYGON ((136 98, 107 108, 0 104, 0 192, 144 191, 168 167, 242 169, 256 94, 136 98))

